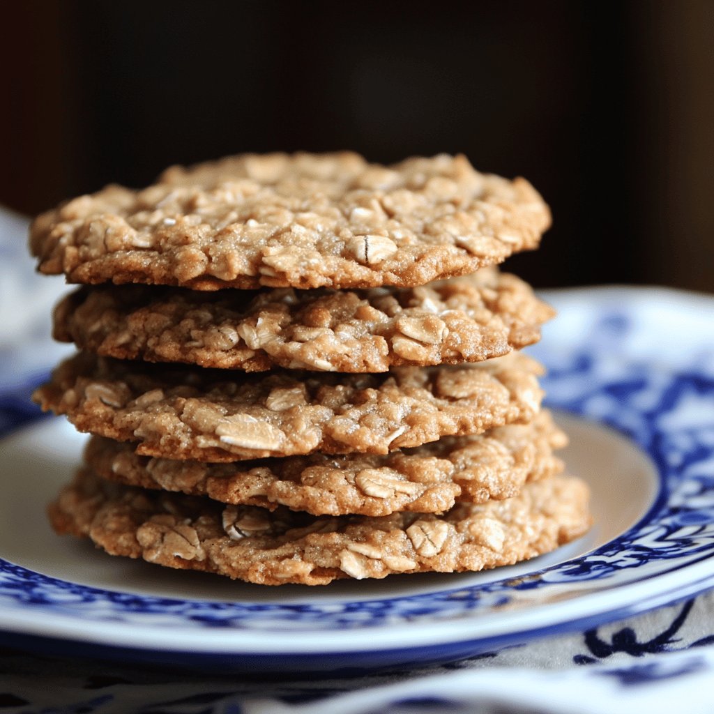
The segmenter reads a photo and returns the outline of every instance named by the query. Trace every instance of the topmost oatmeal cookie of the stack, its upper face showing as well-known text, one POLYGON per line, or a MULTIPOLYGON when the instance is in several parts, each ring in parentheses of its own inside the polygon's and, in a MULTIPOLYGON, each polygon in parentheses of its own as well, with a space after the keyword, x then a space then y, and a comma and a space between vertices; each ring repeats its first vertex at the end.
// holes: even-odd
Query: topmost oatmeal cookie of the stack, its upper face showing
POLYGON ((34 221, 30 245, 40 271, 76 283, 414 287, 535 248, 549 225, 528 181, 464 156, 246 154, 75 198, 34 221))

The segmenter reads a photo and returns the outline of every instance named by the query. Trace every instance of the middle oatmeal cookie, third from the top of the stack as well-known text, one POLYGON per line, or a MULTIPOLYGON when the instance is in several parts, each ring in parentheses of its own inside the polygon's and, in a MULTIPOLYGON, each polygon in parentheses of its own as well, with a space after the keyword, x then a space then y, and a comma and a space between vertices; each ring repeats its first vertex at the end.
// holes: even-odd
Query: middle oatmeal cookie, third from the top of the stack
POLYGON ((530 421, 542 368, 521 353, 383 374, 196 370, 79 353, 34 395, 79 431, 198 461, 387 453, 530 421))

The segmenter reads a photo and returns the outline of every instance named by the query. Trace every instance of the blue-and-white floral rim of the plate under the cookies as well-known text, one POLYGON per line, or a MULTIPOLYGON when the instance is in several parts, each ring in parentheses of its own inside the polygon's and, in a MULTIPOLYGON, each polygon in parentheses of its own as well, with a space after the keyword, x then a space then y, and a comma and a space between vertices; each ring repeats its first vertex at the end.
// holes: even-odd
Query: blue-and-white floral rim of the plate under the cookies
POLYGON ((532 351, 548 366, 549 406, 614 428, 655 465, 650 507, 606 543, 538 558, 516 575, 442 576, 403 591, 396 579, 391 590, 359 597, 291 590, 262 598, 250 590, 234 601, 95 587, 0 559, 0 628, 106 656, 222 658, 238 669, 376 668, 593 626, 714 586, 714 303, 647 296, 615 288, 553 293, 560 316, 532 351))

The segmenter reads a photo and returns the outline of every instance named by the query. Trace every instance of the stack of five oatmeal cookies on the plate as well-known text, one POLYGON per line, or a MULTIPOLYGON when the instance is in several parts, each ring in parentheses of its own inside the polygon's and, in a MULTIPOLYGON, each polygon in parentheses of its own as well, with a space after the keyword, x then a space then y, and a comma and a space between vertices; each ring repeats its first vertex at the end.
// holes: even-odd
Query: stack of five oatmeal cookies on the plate
POLYGON ((84 283, 36 392, 93 436, 51 504, 113 555, 252 583, 481 570, 589 524, 518 348, 553 313, 493 267, 550 216, 463 156, 174 167, 40 216, 84 283), (131 283, 131 284, 130 284, 131 283))

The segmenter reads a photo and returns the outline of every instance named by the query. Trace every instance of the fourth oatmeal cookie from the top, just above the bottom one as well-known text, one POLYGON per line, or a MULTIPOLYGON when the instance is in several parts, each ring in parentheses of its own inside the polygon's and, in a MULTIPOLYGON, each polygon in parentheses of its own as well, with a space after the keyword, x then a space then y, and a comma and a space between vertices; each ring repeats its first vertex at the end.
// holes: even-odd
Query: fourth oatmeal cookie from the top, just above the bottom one
POLYGON ((526 481, 563 470, 553 449, 567 438, 542 411, 529 424, 480 436, 445 436, 386 456, 286 456, 246 463, 203 463, 139 456, 131 444, 95 436, 84 461, 127 486, 209 496, 234 505, 287 506, 315 516, 443 513, 456 501, 516 496, 526 481))

